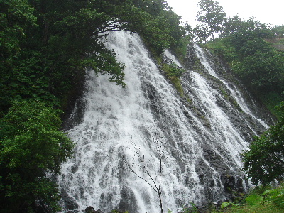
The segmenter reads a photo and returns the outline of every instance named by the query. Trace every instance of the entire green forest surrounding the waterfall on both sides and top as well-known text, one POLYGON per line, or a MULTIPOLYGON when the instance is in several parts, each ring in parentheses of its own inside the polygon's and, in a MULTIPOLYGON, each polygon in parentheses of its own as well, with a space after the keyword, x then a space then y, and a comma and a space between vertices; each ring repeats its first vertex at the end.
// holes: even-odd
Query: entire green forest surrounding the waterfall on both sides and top
MULTIPOLYGON (((124 64, 103 42, 109 31, 138 33, 160 64, 165 48, 182 59, 192 40, 226 61, 275 116, 244 153, 244 170, 255 183, 283 180, 284 52, 273 44, 284 44, 284 26, 227 18, 211 0, 199 6, 200 25, 192 28, 163 0, 0 0, 0 212, 59 211, 46 173, 60 173, 72 156, 62 119, 85 73, 126 86, 124 64)), ((170 76, 181 77, 176 71, 170 76)))

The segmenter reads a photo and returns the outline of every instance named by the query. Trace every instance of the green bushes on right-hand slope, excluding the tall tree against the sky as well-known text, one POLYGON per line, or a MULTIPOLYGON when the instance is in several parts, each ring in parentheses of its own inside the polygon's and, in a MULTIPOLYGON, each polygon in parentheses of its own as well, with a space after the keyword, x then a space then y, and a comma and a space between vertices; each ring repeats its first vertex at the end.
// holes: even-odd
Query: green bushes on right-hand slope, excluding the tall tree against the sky
POLYGON ((244 86, 278 116, 273 108, 283 101, 284 53, 266 41, 278 35, 253 18, 234 16, 225 26, 224 38, 207 43, 207 48, 228 62, 244 86))

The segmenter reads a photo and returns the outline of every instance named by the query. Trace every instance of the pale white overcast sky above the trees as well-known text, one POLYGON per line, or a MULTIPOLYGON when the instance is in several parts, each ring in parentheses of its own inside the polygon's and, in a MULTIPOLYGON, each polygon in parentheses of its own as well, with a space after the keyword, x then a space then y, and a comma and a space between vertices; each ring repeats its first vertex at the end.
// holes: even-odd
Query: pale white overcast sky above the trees
MULTIPOLYGON (((196 15, 199 10, 197 3, 200 0, 166 0, 173 11, 182 16, 182 21, 187 21, 195 26, 196 15)), ((261 23, 284 25, 284 0, 217 0, 223 7, 227 17, 237 13, 243 19, 255 17, 261 23)))

